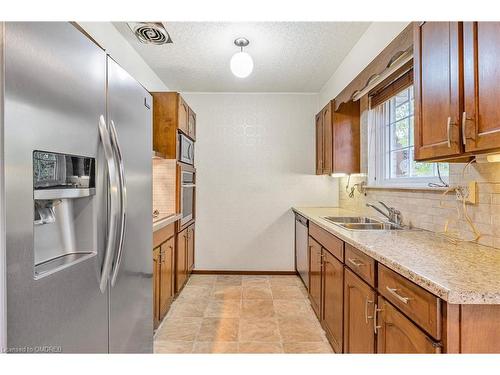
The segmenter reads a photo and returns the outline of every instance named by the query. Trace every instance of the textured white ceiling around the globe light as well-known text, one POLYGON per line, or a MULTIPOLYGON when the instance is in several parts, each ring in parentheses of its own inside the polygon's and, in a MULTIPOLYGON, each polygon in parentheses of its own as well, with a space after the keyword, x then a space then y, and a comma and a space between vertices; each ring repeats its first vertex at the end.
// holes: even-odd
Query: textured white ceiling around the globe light
POLYGON ((114 23, 175 91, 318 92, 369 22, 165 22, 173 44, 140 43, 126 23, 114 23), (237 37, 254 59, 244 79, 229 69, 237 37))

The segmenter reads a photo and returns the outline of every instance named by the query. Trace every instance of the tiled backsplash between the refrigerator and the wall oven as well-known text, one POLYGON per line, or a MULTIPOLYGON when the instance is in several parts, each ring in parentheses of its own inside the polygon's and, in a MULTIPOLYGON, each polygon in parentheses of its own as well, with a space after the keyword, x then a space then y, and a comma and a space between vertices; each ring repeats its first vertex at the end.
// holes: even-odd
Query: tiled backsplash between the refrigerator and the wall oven
POLYGON ((160 217, 175 213, 176 160, 153 159, 153 211, 160 217))

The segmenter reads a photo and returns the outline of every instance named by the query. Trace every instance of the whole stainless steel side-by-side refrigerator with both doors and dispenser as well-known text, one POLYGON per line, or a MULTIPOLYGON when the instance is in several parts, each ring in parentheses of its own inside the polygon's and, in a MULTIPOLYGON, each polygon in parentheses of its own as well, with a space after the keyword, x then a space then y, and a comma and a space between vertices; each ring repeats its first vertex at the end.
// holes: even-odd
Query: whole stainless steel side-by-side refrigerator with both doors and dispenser
POLYGON ((152 352, 150 94, 70 23, 6 23, 7 347, 152 352))

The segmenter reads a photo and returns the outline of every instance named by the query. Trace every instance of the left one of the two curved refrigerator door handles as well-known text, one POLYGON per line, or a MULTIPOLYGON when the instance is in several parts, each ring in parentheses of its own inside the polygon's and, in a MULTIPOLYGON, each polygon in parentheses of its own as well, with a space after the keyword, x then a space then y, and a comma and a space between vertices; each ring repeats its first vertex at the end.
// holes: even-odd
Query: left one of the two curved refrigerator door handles
POLYGON ((104 255, 104 262, 101 270, 101 280, 99 287, 101 292, 106 291, 106 286, 108 284, 109 274, 111 272, 111 266, 113 264, 113 258, 116 246, 116 231, 117 231, 117 219, 119 216, 119 200, 118 200, 118 174, 116 170, 115 159, 113 157, 113 148, 111 146, 111 139, 109 131, 106 127, 106 121, 104 116, 99 117, 99 135, 101 137, 101 142, 104 150, 104 157, 106 159, 106 166, 108 169, 108 179, 109 179, 109 206, 110 206, 110 220, 108 225, 108 234, 106 240, 106 252, 104 255))

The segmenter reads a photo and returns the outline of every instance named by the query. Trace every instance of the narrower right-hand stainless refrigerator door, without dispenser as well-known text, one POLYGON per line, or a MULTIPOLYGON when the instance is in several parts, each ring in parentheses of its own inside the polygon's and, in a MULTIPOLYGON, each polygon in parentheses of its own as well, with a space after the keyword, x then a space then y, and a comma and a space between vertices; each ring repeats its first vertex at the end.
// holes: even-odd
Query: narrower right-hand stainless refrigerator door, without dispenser
MULTIPOLYGON (((145 102, 150 94, 108 58, 108 124, 116 128, 127 200, 122 259, 109 289, 111 353, 153 351, 152 111, 145 102)), ((114 271, 117 265, 115 258, 114 271)))

